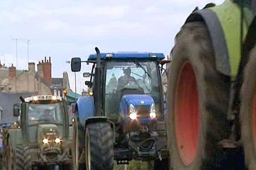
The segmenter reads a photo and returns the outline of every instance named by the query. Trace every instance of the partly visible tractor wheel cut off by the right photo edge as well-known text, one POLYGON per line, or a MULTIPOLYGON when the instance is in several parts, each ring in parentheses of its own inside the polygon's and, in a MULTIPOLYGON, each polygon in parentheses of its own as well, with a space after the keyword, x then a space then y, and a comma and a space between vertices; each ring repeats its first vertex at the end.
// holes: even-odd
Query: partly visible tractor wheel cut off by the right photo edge
POLYGON ((240 122, 245 161, 249 170, 256 170, 256 46, 244 70, 240 122))

